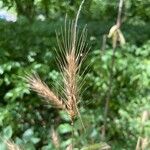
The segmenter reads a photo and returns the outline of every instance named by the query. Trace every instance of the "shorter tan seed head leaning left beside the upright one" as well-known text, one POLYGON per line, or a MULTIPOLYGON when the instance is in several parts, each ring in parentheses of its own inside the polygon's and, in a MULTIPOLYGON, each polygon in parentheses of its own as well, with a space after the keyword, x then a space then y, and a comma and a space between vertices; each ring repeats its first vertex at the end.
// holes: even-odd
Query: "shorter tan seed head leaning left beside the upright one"
POLYGON ((60 100, 37 75, 26 76, 26 81, 33 91, 37 92, 38 95, 50 102, 54 107, 65 109, 63 101, 60 100))

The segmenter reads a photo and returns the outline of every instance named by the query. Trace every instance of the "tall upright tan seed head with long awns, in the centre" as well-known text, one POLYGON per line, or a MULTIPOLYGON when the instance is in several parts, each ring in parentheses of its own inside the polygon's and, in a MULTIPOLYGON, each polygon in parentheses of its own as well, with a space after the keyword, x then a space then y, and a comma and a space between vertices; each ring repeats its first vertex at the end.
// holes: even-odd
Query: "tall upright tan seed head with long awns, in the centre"
POLYGON ((82 34, 81 37, 79 37, 80 40, 78 41, 77 23, 78 23, 78 18, 79 18, 79 14, 80 14, 83 3, 84 3, 84 0, 80 4, 75 22, 73 22, 73 24, 69 28, 70 31, 68 31, 70 32, 68 34, 71 39, 70 43, 69 44, 65 43, 65 41, 68 41, 68 40, 63 40, 64 41, 63 45, 66 45, 64 47, 67 48, 65 49, 66 63, 63 66, 64 88, 65 88, 65 92, 66 92, 65 95, 67 99, 66 108, 67 108, 67 112, 70 115, 72 122, 76 114, 79 113, 78 107, 77 107, 77 103, 78 103, 77 102, 78 101, 77 75, 78 75, 78 71, 80 68, 79 56, 82 53, 82 50, 85 46, 85 41, 84 41, 85 39, 84 39, 84 34, 82 34), (69 46, 67 47, 67 45, 69 46))

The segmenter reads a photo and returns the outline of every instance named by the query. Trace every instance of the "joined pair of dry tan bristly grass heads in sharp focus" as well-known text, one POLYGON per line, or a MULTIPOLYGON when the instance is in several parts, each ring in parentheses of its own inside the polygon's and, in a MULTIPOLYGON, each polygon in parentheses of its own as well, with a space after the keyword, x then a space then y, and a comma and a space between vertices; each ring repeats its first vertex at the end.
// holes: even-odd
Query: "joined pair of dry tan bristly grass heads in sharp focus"
POLYGON ((44 83, 38 75, 27 75, 26 81, 30 85, 30 89, 48 101, 53 107, 65 110, 70 116, 71 123, 75 116, 80 116, 78 110, 80 85, 78 84, 78 76, 81 63, 85 58, 83 50, 87 49, 86 44, 86 28, 83 28, 80 36, 77 29, 77 23, 82 5, 80 4, 74 21, 67 24, 65 20, 64 31, 61 30, 61 37, 56 34, 58 49, 60 51, 58 62, 63 77, 64 97, 59 97, 44 83), (68 26, 67 26, 68 25, 68 26), (67 28, 68 27, 68 28, 67 28), (83 55, 81 57, 81 55, 83 55))

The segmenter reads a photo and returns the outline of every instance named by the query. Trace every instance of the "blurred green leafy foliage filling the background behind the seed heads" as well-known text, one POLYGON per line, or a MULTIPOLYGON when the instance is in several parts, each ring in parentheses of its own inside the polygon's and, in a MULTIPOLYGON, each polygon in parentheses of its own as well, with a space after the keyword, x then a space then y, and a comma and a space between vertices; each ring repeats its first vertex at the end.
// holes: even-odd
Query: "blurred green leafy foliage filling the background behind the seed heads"
MULTIPOLYGON (((61 149, 65 149, 71 143, 72 132, 67 115, 30 92, 22 77, 37 72, 51 88, 60 91, 61 75, 54 51, 57 47, 55 30, 59 31, 66 13, 70 18, 75 16, 80 1, 7 0, 3 4, 16 8, 18 20, 0 20, 1 137, 11 138, 27 150, 49 150, 54 149, 51 141, 51 127, 54 127, 60 136, 61 149), (25 10, 18 10, 16 2, 25 10), (26 11, 29 4, 33 5, 32 12, 29 11, 32 15, 26 11), (38 20, 39 14, 47 19, 38 20)), ((90 66, 80 103, 86 132, 80 120, 75 121, 74 138, 78 149, 101 141, 112 58, 110 40, 107 40, 106 49, 101 50, 102 36, 114 25, 117 6, 114 0, 111 3, 90 0, 85 3, 79 21, 79 28, 87 24, 91 50, 83 64, 83 68, 90 66)), ((138 136, 150 137, 150 122, 145 123, 142 131, 140 120, 142 112, 150 109, 149 9, 146 0, 125 1, 121 28, 127 43, 116 49, 107 119, 107 143, 114 150, 134 149, 138 136)), ((0 147, 5 149, 1 141, 0 147)))

